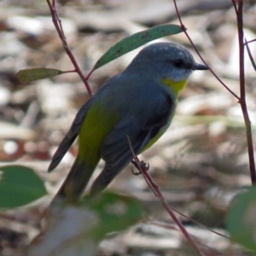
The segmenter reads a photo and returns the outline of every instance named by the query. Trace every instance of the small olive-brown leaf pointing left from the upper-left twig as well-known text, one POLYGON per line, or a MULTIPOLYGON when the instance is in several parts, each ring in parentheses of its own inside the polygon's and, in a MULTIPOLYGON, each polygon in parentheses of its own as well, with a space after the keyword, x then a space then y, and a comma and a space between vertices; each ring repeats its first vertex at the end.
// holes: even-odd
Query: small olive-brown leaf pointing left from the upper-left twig
POLYGON ((30 68, 22 69, 17 73, 20 83, 29 83, 39 79, 48 79, 55 77, 61 73, 65 73, 55 68, 30 68))

